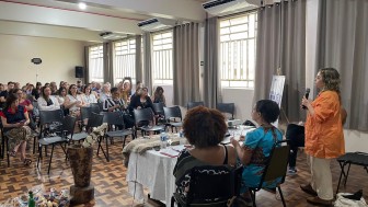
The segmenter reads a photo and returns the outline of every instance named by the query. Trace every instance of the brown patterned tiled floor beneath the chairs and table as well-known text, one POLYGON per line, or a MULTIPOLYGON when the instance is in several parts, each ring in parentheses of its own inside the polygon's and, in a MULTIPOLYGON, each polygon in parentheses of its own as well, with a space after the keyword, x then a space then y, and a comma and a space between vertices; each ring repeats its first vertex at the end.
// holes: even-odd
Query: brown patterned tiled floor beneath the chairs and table
MULTIPOLYGON (((136 206, 136 203, 128 193, 127 183, 125 181, 127 169, 123 166, 122 142, 116 140, 110 149, 110 162, 107 162, 102 154, 100 154, 100 157, 93 157, 92 184, 95 186, 95 200, 84 206, 136 206)), ((96 150, 94 152, 96 152, 96 150)), ((11 166, 7 168, 5 160, 1 160, 0 204, 9 198, 21 195, 26 192, 27 188, 35 185, 43 184, 45 188, 69 188, 69 186, 72 185, 73 179, 71 171, 61 150, 57 150, 54 154, 49 175, 47 175, 46 159, 42 162, 41 171, 38 171, 35 165, 36 156, 32 158, 33 163, 31 166, 23 166, 19 159, 11 159, 11 166)), ((304 184, 309 180, 309 171, 306 163, 306 156, 303 153, 300 153, 298 157, 298 170, 297 175, 286 177, 286 183, 281 186, 281 188, 287 206, 308 207, 311 206, 306 202, 308 195, 299 188, 300 184, 304 184)), ((340 175, 340 166, 335 161, 333 161, 332 171, 335 191, 340 175)), ((341 188, 341 192, 352 193, 360 188, 364 189, 365 198, 368 200, 368 174, 361 166, 352 165, 346 189, 341 188)), ((276 197, 268 192, 261 191, 257 193, 256 197, 257 206, 283 206, 279 198, 276 197)), ((146 204, 145 206, 152 205, 146 204)))

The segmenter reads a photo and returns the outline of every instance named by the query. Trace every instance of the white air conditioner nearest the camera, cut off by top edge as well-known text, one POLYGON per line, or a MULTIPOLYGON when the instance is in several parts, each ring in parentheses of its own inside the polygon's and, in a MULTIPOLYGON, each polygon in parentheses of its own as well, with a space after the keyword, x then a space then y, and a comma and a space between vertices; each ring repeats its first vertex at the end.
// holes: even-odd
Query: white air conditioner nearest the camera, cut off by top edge
POLYGON ((260 8, 261 0, 211 0, 202 5, 212 15, 226 15, 260 8))

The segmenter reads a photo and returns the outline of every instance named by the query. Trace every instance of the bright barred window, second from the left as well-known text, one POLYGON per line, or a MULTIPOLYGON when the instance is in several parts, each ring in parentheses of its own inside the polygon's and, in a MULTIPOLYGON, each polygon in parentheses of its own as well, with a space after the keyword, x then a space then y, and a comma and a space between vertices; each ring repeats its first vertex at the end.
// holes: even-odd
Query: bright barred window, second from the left
POLYGON ((125 39, 114 44, 114 82, 130 77, 136 82, 136 39, 125 39))

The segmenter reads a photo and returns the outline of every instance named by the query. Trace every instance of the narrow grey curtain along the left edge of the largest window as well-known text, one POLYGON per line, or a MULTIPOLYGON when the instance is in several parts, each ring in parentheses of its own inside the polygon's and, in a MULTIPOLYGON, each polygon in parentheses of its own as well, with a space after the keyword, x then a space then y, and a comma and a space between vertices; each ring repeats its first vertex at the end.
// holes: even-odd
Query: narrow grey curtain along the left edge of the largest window
POLYGON ((206 20, 205 27, 205 67, 204 67, 204 101, 208 107, 216 108, 221 102, 221 82, 219 77, 218 51, 219 51, 219 26, 218 18, 206 20))

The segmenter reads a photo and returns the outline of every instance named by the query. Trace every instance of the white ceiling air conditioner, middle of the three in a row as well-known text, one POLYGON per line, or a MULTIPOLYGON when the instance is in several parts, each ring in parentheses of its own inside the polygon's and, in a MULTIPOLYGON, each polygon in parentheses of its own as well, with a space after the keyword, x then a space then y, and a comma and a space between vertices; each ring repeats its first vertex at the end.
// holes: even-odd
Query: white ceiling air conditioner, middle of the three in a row
POLYGON ((142 31, 153 32, 153 31, 170 28, 170 27, 175 26, 176 24, 177 24, 176 20, 153 18, 153 19, 139 22, 138 26, 142 31))

